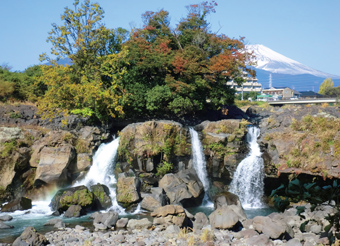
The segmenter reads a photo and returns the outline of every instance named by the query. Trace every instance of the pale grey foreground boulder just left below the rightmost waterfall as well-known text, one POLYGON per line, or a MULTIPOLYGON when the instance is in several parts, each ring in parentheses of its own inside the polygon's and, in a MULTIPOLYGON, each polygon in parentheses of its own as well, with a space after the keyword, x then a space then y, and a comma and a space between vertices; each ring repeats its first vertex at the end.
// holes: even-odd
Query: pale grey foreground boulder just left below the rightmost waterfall
MULTIPOLYGON (((232 205, 231 205, 232 206, 232 205)), ((233 229, 239 231, 240 221, 243 219, 237 214, 231 206, 222 206, 217 208, 209 215, 209 221, 212 228, 233 229)))

